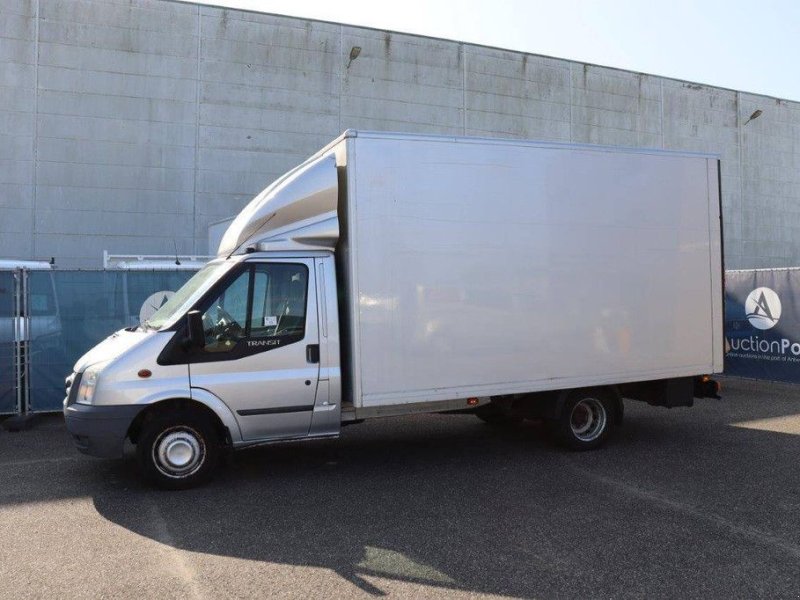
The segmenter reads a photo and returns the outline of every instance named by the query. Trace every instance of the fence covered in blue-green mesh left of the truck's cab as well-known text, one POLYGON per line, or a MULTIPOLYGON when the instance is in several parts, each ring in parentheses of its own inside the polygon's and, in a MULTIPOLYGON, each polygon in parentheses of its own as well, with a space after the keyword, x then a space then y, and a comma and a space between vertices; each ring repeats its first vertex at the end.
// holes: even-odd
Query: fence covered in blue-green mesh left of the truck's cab
POLYGON ((0 414, 61 410, 92 346, 147 318, 193 270, 0 271, 0 414))

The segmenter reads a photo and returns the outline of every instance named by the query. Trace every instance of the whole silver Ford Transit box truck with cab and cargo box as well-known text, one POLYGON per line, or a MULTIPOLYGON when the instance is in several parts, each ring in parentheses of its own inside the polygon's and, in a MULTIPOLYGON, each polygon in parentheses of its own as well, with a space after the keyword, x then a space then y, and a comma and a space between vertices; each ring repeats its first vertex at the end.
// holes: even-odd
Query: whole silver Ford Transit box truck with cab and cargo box
POLYGON ((220 452, 415 412, 600 445, 623 398, 716 395, 719 161, 347 131, 233 220, 151 319, 67 378, 78 448, 164 487, 220 452))

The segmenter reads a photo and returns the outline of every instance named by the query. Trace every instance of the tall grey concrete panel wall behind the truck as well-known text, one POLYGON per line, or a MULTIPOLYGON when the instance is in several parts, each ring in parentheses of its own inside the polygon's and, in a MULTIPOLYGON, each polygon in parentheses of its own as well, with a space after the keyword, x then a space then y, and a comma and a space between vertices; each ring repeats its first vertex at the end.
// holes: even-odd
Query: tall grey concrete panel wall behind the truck
POLYGON ((796 102, 161 0, 3 0, 0 86, 0 257, 205 253, 353 127, 716 152, 727 266, 800 264, 796 102))

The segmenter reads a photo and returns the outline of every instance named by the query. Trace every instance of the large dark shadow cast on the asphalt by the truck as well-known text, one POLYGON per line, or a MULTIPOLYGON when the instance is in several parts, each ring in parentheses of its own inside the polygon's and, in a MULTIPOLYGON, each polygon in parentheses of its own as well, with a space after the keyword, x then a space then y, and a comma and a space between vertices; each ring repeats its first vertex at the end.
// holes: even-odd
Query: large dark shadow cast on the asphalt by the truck
POLYGON ((536 426, 376 423, 238 453, 210 485, 178 493, 144 487, 119 461, 116 490, 94 503, 177 548, 322 567, 373 595, 382 591, 365 576, 524 597, 790 589, 800 576, 791 498, 754 520, 741 511, 765 489, 798 489, 794 461, 775 457, 796 456, 800 436, 647 414, 582 454, 536 426))

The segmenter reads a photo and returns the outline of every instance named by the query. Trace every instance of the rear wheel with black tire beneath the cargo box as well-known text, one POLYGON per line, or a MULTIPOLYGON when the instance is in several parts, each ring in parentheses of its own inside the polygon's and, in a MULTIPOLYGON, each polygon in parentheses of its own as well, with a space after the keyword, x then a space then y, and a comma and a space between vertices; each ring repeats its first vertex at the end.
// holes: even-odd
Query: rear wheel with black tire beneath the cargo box
POLYGON ((604 390, 575 390, 548 423, 556 440, 571 450, 594 450, 614 429, 614 401, 604 390))

